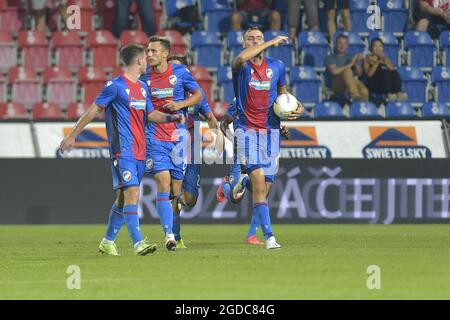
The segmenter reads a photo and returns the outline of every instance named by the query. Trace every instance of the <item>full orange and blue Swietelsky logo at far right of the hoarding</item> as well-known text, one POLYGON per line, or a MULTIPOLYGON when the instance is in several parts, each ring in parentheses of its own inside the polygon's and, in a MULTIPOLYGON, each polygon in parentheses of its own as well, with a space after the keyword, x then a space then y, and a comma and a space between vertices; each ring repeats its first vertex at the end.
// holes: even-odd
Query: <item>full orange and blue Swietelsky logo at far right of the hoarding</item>
POLYGON ((366 159, 426 159, 431 151, 417 141, 416 128, 369 126, 371 142, 364 147, 366 159))

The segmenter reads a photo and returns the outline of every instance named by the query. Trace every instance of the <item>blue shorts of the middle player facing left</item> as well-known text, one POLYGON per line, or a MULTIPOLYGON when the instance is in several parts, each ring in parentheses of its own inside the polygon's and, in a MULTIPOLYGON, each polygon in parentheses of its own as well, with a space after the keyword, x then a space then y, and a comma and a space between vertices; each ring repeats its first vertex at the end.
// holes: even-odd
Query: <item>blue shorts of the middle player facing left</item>
POLYGON ((187 148, 182 142, 151 140, 147 143, 145 172, 157 174, 170 171, 172 179, 183 180, 187 148))

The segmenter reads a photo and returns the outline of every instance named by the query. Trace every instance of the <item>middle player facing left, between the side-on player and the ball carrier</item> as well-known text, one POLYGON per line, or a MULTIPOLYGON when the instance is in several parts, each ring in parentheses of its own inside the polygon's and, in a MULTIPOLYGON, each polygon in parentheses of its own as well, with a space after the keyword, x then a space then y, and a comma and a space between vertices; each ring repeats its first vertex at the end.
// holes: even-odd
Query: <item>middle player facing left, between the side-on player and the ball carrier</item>
MULTIPOLYGON (((156 110, 186 114, 187 107, 200 103, 202 94, 189 70, 178 64, 167 62, 170 42, 152 36, 147 47, 150 67, 141 80, 146 81, 156 110), (186 98, 186 93, 190 96, 186 98)), ((176 250, 173 234, 173 208, 170 197, 179 195, 186 169, 187 134, 185 126, 176 124, 154 124, 146 126, 147 162, 146 172, 155 176, 158 189, 156 209, 165 234, 166 248, 176 250), (180 130, 181 129, 181 130, 180 130), (183 133, 184 137, 180 134, 183 133)))

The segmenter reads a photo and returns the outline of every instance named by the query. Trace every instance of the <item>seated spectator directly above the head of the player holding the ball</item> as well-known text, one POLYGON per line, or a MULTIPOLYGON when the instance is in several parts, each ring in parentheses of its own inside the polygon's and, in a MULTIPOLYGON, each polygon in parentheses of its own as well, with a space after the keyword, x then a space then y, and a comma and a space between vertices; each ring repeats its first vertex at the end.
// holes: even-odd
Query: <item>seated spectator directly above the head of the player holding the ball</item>
POLYGON ((259 26, 270 30, 281 30, 281 14, 271 10, 273 0, 236 0, 236 11, 231 15, 231 28, 242 30, 243 25, 259 26))

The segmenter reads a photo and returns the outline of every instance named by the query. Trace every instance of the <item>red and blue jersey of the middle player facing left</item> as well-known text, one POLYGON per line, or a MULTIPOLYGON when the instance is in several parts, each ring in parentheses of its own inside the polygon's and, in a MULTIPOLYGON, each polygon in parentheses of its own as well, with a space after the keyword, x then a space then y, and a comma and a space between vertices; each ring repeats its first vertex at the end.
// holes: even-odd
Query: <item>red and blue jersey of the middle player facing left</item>
MULTIPOLYGON (((149 88, 155 110, 173 114, 183 113, 186 118, 186 109, 168 112, 162 106, 170 101, 185 100, 186 92, 193 93, 200 89, 191 72, 184 65, 178 64, 169 63, 169 67, 163 73, 157 73, 152 67, 149 67, 141 80, 149 88)), ((186 126, 180 123, 156 124, 149 122, 146 126, 146 135, 148 139, 176 142, 180 140, 177 129, 185 128, 186 126)))

